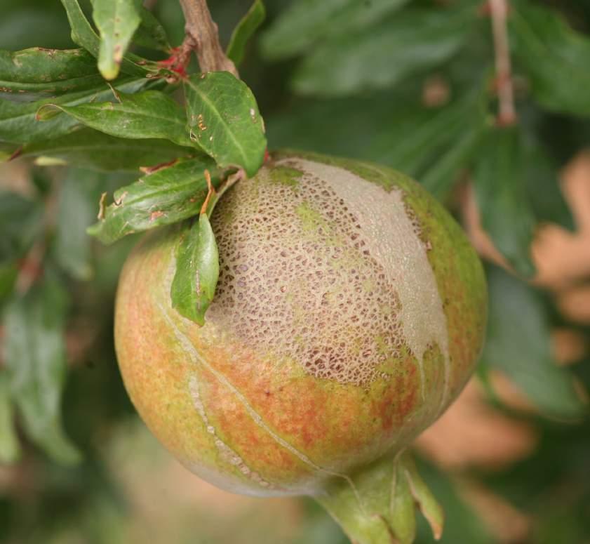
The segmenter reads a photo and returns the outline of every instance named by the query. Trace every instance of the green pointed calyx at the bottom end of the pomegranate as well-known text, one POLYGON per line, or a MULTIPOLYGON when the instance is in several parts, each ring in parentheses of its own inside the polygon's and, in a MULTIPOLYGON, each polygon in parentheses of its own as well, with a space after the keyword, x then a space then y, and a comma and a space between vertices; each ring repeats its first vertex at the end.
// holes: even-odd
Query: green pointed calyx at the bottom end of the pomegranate
POLYGON ((443 510, 407 451, 330 482, 326 493, 315 498, 356 544, 413 543, 416 505, 434 538, 441 538, 443 510))

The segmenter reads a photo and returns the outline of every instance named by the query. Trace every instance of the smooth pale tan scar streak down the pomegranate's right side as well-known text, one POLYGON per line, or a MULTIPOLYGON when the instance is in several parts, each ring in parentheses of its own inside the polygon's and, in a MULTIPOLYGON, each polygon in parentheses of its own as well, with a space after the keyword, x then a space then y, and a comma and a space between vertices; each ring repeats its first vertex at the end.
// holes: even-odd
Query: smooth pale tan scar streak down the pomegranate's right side
POLYGON ((417 232, 415 218, 407 213, 403 192, 396 188, 387 192, 344 168, 304 159, 291 161, 291 164, 307 175, 323 180, 337 197, 354 209, 370 256, 380 263, 399 297, 401 309, 398 317, 403 328, 403 340, 419 362, 423 399, 427 394, 424 388, 424 353, 433 341, 441 348, 445 362, 443 406, 450 387, 447 321, 436 277, 428 260, 428 248, 422 242, 420 232, 417 232))

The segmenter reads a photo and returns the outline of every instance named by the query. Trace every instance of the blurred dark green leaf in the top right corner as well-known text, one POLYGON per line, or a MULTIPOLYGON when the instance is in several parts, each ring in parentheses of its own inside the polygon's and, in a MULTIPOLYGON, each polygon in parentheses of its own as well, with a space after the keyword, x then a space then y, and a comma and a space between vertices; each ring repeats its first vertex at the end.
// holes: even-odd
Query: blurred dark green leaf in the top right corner
POLYGON ((575 32, 554 9, 511 4, 510 37, 532 95, 554 112, 590 115, 590 38, 575 32))

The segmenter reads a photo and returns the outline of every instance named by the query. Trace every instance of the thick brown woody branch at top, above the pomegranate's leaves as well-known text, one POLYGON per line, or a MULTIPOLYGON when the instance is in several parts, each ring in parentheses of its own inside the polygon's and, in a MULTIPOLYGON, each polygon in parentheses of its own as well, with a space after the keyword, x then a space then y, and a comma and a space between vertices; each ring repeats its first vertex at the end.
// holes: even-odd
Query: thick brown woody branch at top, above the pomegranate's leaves
POLYGON ((223 51, 206 0, 180 0, 180 6, 187 22, 182 47, 196 52, 201 72, 230 72, 239 77, 234 63, 223 51))

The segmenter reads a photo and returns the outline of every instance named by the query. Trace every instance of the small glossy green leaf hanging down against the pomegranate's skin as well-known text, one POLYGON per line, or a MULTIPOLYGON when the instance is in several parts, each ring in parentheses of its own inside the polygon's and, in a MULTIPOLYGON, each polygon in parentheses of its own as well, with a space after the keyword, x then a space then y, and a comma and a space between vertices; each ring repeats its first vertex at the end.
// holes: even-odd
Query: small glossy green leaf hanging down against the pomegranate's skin
POLYGON ((199 325, 215 295, 219 252, 207 213, 185 232, 176 251, 176 272, 170 288, 172 307, 199 325))

